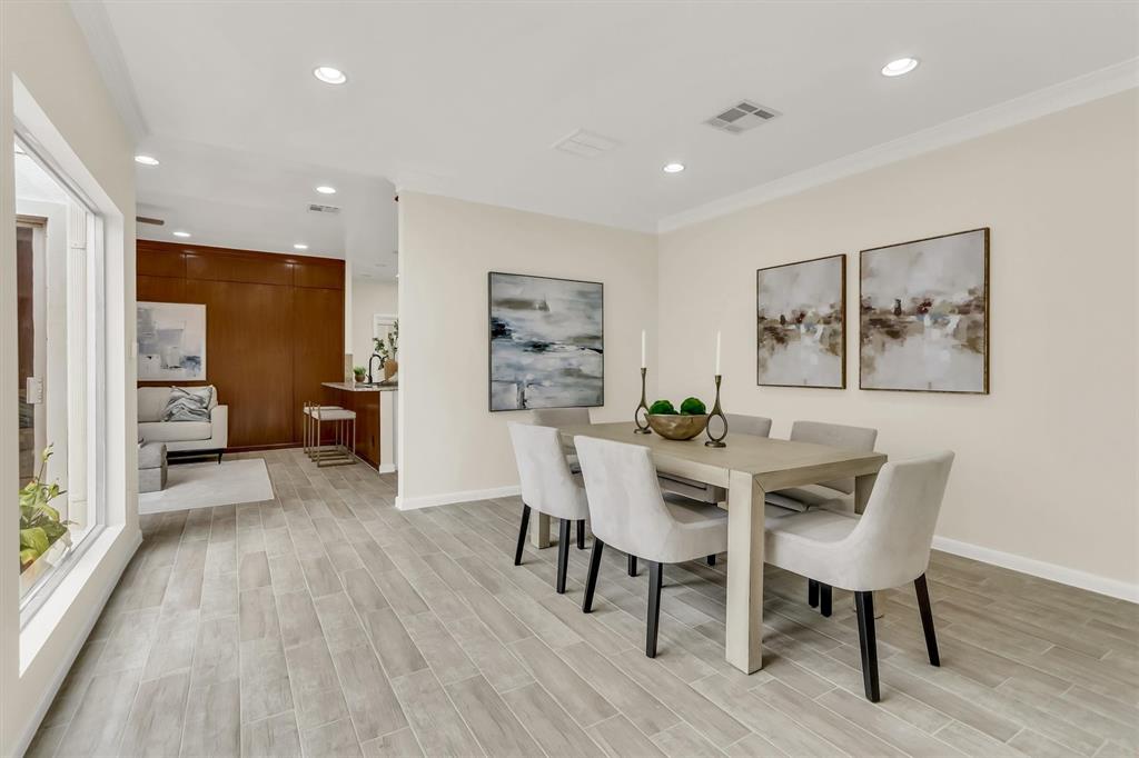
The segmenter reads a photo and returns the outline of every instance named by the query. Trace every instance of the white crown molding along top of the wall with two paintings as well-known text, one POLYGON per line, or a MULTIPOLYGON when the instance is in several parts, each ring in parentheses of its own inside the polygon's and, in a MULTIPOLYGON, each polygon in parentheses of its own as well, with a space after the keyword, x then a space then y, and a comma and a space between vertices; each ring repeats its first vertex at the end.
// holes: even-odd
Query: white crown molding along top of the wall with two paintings
POLYGON ((827 184, 878 166, 1008 129, 1133 88, 1139 88, 1139 58, 1124 60, 1107 68, 1046 86, 1042 90, 960 116, 937 126, 665 216, 657 223, 657 232, 675 231, 702 221, 770 203, 780 197, 797 195, 812 187, 827 184))

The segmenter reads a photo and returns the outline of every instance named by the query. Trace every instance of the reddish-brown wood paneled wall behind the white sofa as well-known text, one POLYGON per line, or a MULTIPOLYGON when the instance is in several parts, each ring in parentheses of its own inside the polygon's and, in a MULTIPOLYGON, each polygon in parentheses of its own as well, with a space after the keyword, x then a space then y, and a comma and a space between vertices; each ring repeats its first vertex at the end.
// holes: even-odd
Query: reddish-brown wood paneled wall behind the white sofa
POLYGON ((301 444, 301 406, 344 378, 344 262, 138 240, 138 299, 204 303, 206 381, 230 450, 301 444))

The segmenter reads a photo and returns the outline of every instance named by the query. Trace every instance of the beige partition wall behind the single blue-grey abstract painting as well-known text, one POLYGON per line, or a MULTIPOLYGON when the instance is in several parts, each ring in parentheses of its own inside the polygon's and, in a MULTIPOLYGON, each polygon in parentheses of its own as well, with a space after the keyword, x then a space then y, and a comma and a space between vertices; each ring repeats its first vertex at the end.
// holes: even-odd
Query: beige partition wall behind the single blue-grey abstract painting
POLYGON ((401 193, 403 506, 474 500, 518 484, 506 425, 528 414, 487 410, 490 271, 604 282, 607 403, 593 418, 626 419, 637 404, 640 330, 652 335, 656 320, 654 236, 401 193))

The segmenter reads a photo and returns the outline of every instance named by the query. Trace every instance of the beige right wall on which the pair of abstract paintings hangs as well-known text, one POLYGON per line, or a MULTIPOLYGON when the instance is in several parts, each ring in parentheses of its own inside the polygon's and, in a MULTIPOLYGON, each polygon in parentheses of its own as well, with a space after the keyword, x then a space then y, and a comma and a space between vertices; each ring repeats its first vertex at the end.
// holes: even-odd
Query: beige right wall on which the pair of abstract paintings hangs
POLYGON ((1137 114, 1131 90, 663 236, 664 394, 711 394, 722 329, 729 411, 775 418, 776 436, 794 419, 877 427, 896 458, 951 448, 941 537, 1133 594, 1137 114), (991 394, 860 392, 858 250, 977 226, 992 228, 991 394), (755 270, 836 253, 847 389, 756 387, 755 270))

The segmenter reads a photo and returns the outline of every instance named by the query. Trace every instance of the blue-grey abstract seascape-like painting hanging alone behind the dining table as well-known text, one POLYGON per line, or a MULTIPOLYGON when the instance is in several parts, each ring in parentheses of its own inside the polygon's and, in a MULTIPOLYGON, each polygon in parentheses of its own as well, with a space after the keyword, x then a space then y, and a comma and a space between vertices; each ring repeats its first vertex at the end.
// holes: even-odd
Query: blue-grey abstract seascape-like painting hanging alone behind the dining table
POLYGON ((491 272, 490 410, 605 404, 605 287, 491 272))

